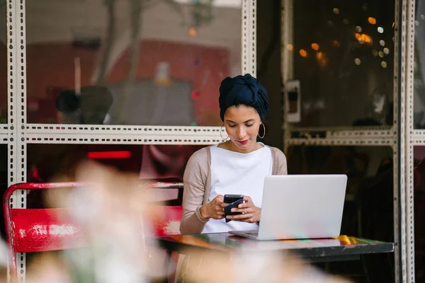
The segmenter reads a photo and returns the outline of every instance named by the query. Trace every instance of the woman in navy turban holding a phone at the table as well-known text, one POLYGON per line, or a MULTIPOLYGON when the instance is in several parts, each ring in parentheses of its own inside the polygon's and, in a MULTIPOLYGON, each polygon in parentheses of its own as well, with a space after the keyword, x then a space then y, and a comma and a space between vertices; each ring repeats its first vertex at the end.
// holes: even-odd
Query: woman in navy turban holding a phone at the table
POLYGON ((250 74, 226 78, 220 86, 220 117, 228 140, 196 151, 183 176, 181 233, 255 230, 261 215, 267 175, 287 174, 286 158, 277 148, 257 142, 266 134, 266 89, 250 74), (227 216, 224 195, 244 195, 244 203, 227 216))

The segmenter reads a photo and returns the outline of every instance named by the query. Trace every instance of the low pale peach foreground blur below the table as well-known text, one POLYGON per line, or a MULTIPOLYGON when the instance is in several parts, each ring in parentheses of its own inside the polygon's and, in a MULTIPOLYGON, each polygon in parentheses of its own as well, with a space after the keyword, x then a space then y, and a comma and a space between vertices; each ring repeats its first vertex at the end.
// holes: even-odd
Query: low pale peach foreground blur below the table
MULTIPOLYGON (((188 253, 188 265, 181 267, 180 282, 285 282, 349 283, 280 252, 243 252, 231 255, 188 253), (196 262, 190 264, 191 260, 196 262)), ((187 257, 187 256, 186 256, 187 257)))

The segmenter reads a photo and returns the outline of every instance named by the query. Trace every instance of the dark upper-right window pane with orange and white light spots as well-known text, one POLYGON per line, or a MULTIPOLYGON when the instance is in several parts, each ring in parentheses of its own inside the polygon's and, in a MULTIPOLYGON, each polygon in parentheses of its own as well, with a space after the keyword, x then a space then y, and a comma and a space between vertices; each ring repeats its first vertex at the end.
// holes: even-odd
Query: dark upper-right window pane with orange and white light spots
POLYGON ((394 1, 293 1, 298 126, 392 125, 394 1))

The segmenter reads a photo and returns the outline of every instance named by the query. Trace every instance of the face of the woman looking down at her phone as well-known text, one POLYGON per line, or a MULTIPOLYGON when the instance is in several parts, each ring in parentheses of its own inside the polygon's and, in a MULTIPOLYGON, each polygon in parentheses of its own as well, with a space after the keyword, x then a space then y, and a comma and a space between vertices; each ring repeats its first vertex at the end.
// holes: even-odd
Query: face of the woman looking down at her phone
POLYGON ((246 105, 232 106, 225 112, 225 127, 234 151, 251 152, 256 149, 256 137, 261 125, 260 115, 246 105))

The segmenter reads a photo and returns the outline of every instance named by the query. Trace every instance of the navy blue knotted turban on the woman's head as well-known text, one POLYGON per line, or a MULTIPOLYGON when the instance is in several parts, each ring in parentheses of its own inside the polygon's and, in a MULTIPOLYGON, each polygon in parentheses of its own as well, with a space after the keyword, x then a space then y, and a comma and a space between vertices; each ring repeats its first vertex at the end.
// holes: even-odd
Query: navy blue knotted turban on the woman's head
POLYGON ((259 80, 250 74, 244 76, 227 77, 220 86, 220 117, 225 120, 225 112, 227 108, 233 105, 244 104, 253 107, 260 115, 261 121, 268 112, 267 91, 259 80))

